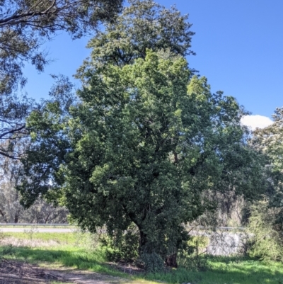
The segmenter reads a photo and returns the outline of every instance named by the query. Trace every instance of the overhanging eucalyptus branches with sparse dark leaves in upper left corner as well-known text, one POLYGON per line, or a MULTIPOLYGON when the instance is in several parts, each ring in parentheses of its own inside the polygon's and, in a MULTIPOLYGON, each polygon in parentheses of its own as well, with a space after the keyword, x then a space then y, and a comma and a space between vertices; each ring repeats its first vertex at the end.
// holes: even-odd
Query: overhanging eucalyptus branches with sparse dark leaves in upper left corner
POLYGON ((22 153, 13 152, 14 144, 28 136, 25 118, 33 102, 16 94, 27 81, 25 63, 42 72, 49 62, 42 43, 62 30, 73 39, 93 33, 99 23, 115 18, 121 4, 122 0, 0 1, 0 140, 11 142, 0 148, 1 155, 19 159, 22 153))

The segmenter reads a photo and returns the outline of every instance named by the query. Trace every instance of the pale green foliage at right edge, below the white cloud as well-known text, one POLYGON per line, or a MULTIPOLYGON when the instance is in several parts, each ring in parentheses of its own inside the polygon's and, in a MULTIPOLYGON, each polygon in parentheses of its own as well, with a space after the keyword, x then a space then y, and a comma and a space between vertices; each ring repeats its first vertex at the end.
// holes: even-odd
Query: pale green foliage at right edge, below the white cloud
POLYGON ((268 158, 265 166, 268 187, 260 203, 251 206, 250 231, 253 232, 251 254, 262 259, 282 261, 283 243, 283 109, 272 115, 274 123, 253 133, 251 143, 268 158))

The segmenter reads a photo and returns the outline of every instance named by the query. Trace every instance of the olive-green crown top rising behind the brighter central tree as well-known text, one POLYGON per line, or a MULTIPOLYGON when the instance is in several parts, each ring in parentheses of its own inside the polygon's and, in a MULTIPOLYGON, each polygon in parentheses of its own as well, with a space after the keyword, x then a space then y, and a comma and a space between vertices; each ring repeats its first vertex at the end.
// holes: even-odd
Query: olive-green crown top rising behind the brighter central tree
POLYGON ((174 6, 170 9, 153 0, 129 0, 115 21, 88 42, 91 60, 86 60, 76 75, 83 79, 86 69, 103 67, 105 62, 123 66, 145 58, 146 49, 169 50, 175 55, 195 55, 190 50, 192 24, 174 6))

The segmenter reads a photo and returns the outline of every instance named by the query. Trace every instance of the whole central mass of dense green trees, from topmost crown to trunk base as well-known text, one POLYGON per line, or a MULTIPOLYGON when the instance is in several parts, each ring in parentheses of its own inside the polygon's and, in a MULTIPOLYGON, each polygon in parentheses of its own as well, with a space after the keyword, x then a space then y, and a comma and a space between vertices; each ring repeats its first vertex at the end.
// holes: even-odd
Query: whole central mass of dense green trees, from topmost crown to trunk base
POLYGON ((33 144, 18 189, 24 205, 59 200, 83 229, 106 225, 112 239, 135 226, 141 259, 177 266, 188 249, 184 224, 215 208, 203 193, 256 198, 262 159, 235 98, 192 76, 186 17, 151 0, 130 3, 91 40, 79 98, 59 78, 28 118, 33 144))

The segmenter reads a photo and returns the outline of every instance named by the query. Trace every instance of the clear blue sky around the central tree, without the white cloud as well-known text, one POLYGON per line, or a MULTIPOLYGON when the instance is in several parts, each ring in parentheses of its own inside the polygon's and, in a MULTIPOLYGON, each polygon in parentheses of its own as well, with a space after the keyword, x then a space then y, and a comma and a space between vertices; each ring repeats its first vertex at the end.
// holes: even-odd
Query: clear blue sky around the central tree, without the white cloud
MULTIPOLYGON (((190 67, 207 76, 212 91, 224 91, 254 115, 270 117, 283 106, 283 1, 282 0, 158 0, 169 7, 176 4, 189 13, 192 50, 190 67)), ((54 59, 44 74, 25 68, 25 91, 33 98, 47 97, 52 79, 49 74, 71 76, 89 50, 89 38, 72 41, 57 35, 45 44, 54 59)), ((79 82, 77 83, 79 86, 79 82)))

